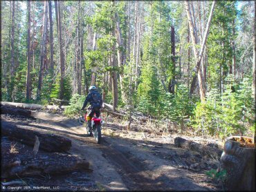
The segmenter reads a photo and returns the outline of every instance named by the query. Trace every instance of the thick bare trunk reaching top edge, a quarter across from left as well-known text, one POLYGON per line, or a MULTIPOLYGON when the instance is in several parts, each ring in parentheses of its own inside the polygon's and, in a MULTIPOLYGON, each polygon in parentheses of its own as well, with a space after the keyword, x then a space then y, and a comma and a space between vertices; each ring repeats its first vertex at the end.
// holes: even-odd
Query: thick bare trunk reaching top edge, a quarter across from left
POLYGON ((65 59, 63 53, 63 41, 62 41, 62 19, 61 19, 61 9, 60 2, 58 1, 58 24, 59 24, 59 46, 60 46, 60 95, 59 99, 64 97, 64 75, 65 75, 65 59))

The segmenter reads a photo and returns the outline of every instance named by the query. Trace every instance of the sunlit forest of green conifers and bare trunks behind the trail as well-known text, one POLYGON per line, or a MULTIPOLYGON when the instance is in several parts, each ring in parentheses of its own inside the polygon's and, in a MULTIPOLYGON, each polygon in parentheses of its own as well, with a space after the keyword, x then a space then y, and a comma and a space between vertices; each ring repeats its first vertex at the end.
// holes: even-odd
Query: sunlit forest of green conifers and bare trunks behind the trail
POLYGON ((1 101, 72 115, 91 85, 156 128, 251 135, 255 2, 1 1, 1 101))

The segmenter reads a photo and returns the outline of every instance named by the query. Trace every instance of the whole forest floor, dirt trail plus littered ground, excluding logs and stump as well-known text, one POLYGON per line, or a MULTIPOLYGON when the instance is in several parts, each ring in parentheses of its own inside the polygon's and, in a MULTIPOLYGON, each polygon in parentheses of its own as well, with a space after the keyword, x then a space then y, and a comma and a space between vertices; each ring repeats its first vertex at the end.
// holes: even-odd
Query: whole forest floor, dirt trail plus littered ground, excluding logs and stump
MULTIPOLYGON (((72 141, 68 154, 90 163, 91 171, 66 175, 39 175, 17 178, 30 189, 50 186, 53 191, 219 191, 221 182, 205 173, 219 166, 219 157, 205 157, 195 151, 174 146, 179 136, 201 144, 217 140, 185 135, 122 130, 110 118, 104 119, 102 143, 86 135, 86 129, 75 119, 63 115, 35 112, 36 119, 1 115, 1 119, 42 133, 62 135, 72 141), (108 121, 109 120, 109 121, 108 121)), ((14 142, 15 143, 15 142, 14 142)), ((19 153, 33 147, 17 145, 19 153)), ((39 153, 43 153, 39 151, 39 153)), ((7 181, 8 182, 8 181, 7 181)), ((41 188, 42 190, 42 188, 41 188)), ((48 191, 48 189, 47 189, 48 191)))

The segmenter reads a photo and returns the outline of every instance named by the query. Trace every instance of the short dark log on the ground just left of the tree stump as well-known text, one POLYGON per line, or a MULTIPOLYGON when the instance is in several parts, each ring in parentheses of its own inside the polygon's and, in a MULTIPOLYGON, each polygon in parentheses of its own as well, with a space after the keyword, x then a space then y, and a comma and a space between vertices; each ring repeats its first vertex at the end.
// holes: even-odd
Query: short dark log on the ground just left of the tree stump
POLYGON ((181 137, 176 137, 174 139, 174 144, 177 147, 187 148, 189 150, 202 153, 203 155, 208 155, 209 157, 220 157, 222 153, 222 151, 219 148, 213 148, 210 146, 205 146, 203 144, 198 144, 196 142, 185 140, 181 137))

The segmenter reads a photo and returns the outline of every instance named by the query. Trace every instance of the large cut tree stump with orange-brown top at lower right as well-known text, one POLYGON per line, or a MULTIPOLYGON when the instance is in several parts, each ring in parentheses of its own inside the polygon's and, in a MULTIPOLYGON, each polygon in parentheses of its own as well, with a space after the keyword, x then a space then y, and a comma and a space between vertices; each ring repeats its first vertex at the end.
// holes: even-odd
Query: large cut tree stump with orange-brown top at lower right
POLYGON ((232 136, 226 139, 221 155, 226 170, 225 186, 230 191, 255 191, 255 144, 253 138, 232 136))

